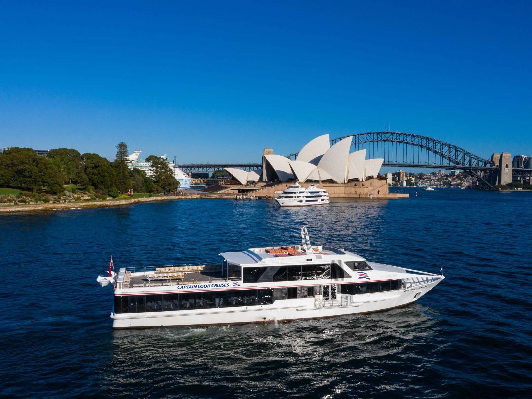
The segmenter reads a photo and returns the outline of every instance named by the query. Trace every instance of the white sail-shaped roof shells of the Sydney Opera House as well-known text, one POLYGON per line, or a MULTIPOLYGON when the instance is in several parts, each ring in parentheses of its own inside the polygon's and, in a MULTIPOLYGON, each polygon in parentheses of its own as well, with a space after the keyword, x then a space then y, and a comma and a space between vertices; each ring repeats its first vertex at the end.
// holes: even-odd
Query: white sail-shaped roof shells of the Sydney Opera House
MULTIPOLYGON (((297 154, 296 160, 276 154, 264 154, 263 166, 268 181, 281 183, 297 180, 304 183, 313 181, 334 181, 345 184, 349 181, 364 181, 377 177, 384 159, 365 159, 366 151, 350 153, 353 136, 345 137, 329 146, 329 135, 323 134, 309 141, 297 154)), ((240 184, 256 183, 263 170, 248 172, 243 169, 225 169, 240 184)))

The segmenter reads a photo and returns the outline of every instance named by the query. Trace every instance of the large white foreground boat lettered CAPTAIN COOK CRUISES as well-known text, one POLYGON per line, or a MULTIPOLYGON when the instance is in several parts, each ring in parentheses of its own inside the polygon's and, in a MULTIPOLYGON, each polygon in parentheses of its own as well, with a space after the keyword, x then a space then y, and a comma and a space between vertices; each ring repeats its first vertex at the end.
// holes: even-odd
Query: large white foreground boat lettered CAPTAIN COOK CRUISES
POLYGON ((367 262, 350 251, 303 245, 221 253, 219 266, 120 268, 114 329, 226 325, 382 311, 415 302, 443 275, 367 262))

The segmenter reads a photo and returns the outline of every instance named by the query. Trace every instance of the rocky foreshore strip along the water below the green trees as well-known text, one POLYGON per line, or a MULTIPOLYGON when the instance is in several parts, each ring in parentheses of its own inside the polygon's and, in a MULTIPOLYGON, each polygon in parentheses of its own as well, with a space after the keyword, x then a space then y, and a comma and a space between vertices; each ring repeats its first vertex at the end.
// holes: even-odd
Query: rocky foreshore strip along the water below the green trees
POLYGON ((167 200, 184 200, 201 198, 198 195, 185 196, 163 196, 163 197, 148 197, 148 198, 127 198, 118 200, 103 200, 103 201, 77 201, 77 202, 61 202, 61 203, 35 203, 28 205, 3 205, 0 206, 0 213, 7 212, 26 212, 38 210, 58 210, 58 209, 79 209, 79 208, 101 208, 119 205, 131 205, 140 202, 154 202, 167 200))

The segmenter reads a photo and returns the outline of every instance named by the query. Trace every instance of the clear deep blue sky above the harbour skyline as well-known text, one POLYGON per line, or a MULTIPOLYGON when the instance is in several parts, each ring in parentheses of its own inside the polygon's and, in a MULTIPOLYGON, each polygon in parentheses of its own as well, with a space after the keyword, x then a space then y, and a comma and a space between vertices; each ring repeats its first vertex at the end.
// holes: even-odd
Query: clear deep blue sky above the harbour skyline
POLYGON ((329 133, 532 155, 532 2, 4 2, 0 148, 259 162, 329 133))

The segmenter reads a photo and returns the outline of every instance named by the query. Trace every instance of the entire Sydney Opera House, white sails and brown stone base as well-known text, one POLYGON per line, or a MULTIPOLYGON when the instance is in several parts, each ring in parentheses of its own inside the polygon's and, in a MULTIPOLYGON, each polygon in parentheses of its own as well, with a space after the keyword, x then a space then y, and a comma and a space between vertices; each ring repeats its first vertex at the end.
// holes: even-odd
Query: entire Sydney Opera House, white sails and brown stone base
POLYGON ((250 193, 257 197, 274 197, 295 181, 302 185, 320 184, 329 197, 400 198, 389 194, 379 170, 384 159, 365 159, 365 150, 350 152, 352 136, 329 145, 324 134, 307 143, 292 160, 265 149, 262 169, 226 168, 231 179, 218 191, 220 194, 250 193))

